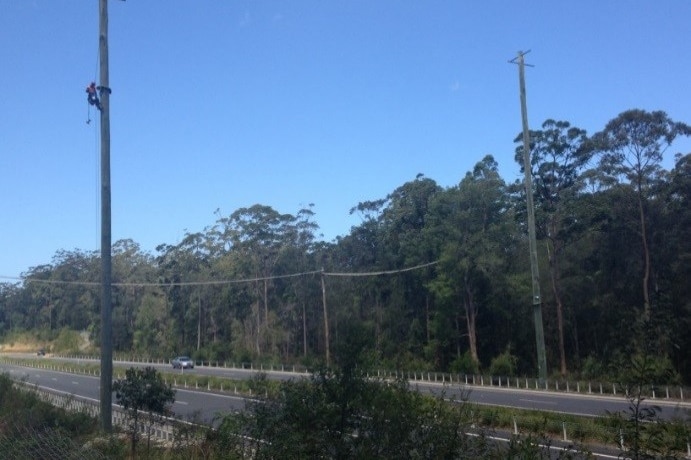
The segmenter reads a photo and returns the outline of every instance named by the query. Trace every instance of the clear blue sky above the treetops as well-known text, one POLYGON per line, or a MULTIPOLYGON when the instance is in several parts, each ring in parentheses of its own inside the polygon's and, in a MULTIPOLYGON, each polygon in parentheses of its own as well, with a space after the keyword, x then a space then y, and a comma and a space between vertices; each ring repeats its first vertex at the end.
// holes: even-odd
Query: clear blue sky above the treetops
MULTIPOLYGON (((113 241, 176 244, 259 203, 314 204, 324 239, 418 173, 486 154, 520 176, 531 128, 620 112, 691 123, 691 2, 111 0, 113 241)), ((0 0, 0 276, 100 245, 97 0, 0 0)), ((688 140, 668 151, 691 151, 688 140)))

